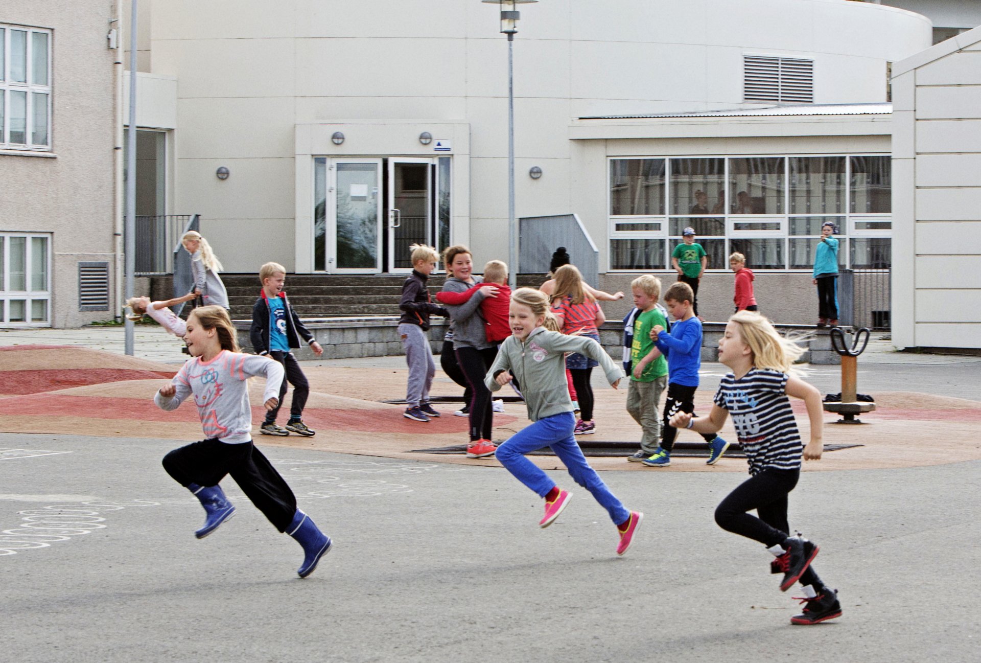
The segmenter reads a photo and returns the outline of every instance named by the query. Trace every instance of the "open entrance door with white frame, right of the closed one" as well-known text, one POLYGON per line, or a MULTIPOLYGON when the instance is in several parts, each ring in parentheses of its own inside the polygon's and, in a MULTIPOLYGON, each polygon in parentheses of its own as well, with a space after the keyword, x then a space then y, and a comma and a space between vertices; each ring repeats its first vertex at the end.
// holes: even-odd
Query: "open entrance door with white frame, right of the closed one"
POLYGON ((388 159, 388 272, 411 272, 409 246, 433 244, 432 166, 432 159, 388 159))

